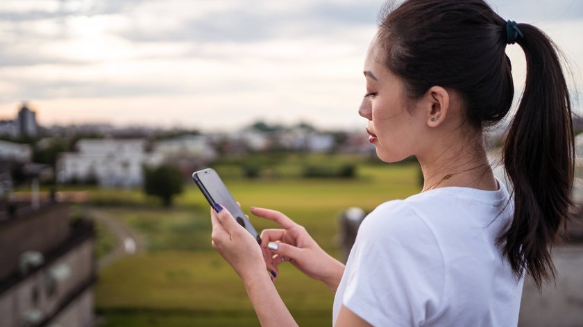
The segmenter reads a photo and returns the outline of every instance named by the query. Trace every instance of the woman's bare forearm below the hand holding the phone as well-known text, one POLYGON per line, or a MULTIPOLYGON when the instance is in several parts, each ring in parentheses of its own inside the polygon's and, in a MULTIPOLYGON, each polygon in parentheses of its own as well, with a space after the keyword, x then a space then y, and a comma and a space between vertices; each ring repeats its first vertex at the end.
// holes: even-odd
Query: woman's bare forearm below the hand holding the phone
POLYGON ((298 326, 267 274, 246 279, 244 285, 261 326, 298 326))

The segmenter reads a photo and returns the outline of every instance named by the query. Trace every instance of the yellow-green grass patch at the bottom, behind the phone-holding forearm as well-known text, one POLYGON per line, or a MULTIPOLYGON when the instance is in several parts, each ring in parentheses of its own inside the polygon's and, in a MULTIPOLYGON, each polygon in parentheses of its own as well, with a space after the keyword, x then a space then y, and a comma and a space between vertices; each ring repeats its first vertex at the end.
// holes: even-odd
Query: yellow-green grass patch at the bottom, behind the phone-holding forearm
MULTIPOLYGON (((323 325, 332 323, 334 294, 323 283, 292 265, 281 265, 276 286, 289 310, 299 323, 303 322, 301 326, 314 326, 314 319, 325 322, 323 325)), ((219 254, 211 251, 164 251, 126 257, 100 273, 94 291, 99 312, 147 310, 172 316, 178 312, 178 317, 189 312, 188 320, 215 320, 212 326, 258 326, 241 280, 219 254), (238 321, 237 317, 246 319, 238 321), (218 321, 223 324, 217 325, 218 321)))

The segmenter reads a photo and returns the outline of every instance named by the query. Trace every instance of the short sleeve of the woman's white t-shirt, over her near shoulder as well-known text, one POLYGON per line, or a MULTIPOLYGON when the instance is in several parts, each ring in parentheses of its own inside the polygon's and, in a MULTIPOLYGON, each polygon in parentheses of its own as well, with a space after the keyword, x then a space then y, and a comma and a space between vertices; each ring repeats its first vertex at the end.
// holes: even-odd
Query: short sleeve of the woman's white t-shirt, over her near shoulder
POLYGON ((423 326, 439 310, 443 256, 431 229, 402 201, 362 222, 342 303, 373 326, 423 326))

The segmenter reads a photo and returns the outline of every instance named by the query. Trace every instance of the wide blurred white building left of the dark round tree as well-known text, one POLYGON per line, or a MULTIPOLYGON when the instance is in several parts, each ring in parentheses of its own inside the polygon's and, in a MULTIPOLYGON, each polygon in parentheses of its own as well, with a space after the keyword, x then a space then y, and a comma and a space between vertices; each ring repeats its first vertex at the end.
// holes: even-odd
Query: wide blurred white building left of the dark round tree
POLYGON ((143 182, 142 166, 162 162, 160 154, 146 152, 145 147, 142 139, 78 141, 78 152, 63 153, 58 159, 58 182, 94 179, 101 186, 139 186, 143 182))

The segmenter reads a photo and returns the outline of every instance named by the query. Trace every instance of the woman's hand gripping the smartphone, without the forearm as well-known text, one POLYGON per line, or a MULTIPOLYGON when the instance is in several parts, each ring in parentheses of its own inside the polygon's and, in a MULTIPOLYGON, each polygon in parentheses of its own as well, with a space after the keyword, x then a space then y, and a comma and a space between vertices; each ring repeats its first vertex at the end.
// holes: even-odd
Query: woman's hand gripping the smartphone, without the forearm
POLYGON ((237 223, 227 209, 220 206, 218 213, 210 209, 212 247, 235 269, 243 281, 251 281, 266 274, 262 249, 257 240, 237 223))

